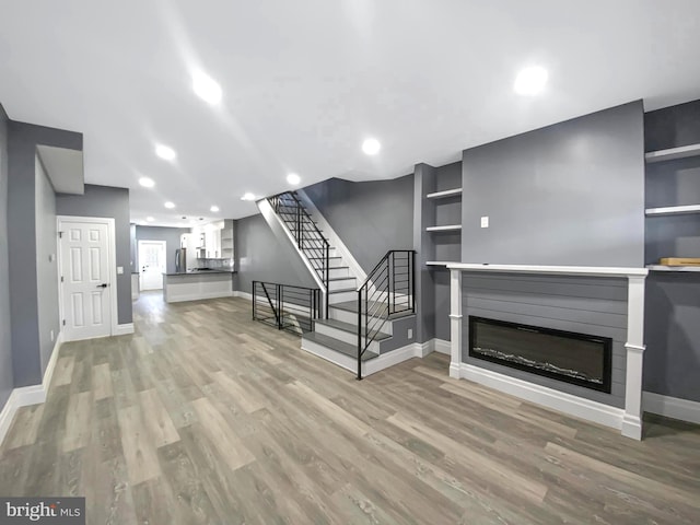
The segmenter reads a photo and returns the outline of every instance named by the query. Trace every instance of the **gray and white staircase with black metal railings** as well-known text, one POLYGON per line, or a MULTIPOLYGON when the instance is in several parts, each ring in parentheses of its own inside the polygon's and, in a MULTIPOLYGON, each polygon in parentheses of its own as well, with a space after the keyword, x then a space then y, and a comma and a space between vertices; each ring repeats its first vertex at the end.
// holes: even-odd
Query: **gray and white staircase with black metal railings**
POLYGON ((409 335, 416 325, 415 252, 389 250, 360 279, 351 270, 357 264, 350 265, 331 245, 335 233, 319 228, 295 191, 267 201, 324 295, 323 318, 302 335, 302 349, 357 373, 358 378, 413 357, 409 335))

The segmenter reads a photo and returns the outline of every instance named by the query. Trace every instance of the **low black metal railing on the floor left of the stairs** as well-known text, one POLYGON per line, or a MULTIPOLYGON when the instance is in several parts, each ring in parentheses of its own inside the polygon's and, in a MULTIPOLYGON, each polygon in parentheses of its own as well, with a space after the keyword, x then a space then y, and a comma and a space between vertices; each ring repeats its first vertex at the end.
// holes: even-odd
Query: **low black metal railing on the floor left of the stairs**
POLYGON ((253 320, 303 335, 320 317, 320 290, 253 281, 253 320))

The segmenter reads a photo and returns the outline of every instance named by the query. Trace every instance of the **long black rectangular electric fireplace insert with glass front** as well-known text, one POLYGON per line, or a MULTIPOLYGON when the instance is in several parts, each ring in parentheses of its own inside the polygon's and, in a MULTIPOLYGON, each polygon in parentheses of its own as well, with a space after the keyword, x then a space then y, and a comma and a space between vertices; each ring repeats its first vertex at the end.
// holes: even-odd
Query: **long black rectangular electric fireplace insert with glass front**
POLYGON ((469 355, 610 392, 612 339, 469 316, 469 355))

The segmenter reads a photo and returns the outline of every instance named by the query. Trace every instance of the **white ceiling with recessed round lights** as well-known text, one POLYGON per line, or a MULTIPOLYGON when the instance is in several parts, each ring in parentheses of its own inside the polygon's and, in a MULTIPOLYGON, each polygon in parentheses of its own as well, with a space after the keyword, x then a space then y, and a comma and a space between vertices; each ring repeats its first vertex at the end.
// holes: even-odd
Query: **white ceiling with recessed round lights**
POLYGON ((0 0, 0 12, 10 117, 82 131, 85 182, 129 187, 132 220, 162 225, 212 218, 214 203, 252 214, 240 197, 287 189, 289 172, 302 185, 393 178, 632 100, 700 98, 698 0, 0 0), (533 63, 546 92, 514 94, 533 63), (220 82, 220 105, 195 96, 195 69, 220 82), (369 136, 377 156, 361 152, 369 136))

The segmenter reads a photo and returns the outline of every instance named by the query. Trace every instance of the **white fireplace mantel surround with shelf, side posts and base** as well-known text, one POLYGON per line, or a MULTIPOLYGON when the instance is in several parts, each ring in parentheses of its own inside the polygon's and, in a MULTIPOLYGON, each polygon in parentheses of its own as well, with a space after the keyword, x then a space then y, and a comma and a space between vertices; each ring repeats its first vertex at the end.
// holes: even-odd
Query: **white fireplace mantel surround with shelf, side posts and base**
POLYGON ((468 262, 428 262, 450 270, 450 375, 463 377, 513 394, 521 398, 561 410, 573 416, 617 428, 622 435, 642 439, 642 365, 644 363, 644 280, 646 268, 591 267, 591 266, 529 266, 483 265, 468 262), (462 362, 462 273, 500 272, 556 275, 598 278, 626 278, 627 302, 627 376, 625 409, 583 399, 552 388, 515 380, 462 362))

